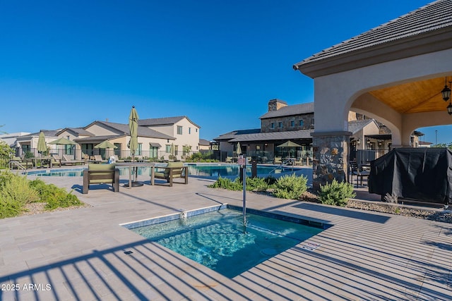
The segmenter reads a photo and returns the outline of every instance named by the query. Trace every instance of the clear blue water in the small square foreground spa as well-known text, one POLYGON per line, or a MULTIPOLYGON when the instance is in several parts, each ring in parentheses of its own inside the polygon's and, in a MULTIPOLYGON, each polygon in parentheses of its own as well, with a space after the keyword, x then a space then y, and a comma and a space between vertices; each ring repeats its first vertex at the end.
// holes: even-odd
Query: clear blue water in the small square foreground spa
POLYGON ((323 228, 221 209, 130 230, 174 252, 233 278, 323 228))

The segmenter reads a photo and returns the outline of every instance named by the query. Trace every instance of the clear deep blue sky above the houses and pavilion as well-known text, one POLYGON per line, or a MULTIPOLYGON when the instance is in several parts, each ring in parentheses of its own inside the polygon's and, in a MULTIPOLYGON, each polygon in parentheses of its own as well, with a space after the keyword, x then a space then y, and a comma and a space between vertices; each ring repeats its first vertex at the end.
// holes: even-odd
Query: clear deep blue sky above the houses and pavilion
POLYGON ((269 99, 314 100, 294 63, 429 2, 1 1, 0 130, 127 123, 132 105, 208 140, 259 128, 269 99))

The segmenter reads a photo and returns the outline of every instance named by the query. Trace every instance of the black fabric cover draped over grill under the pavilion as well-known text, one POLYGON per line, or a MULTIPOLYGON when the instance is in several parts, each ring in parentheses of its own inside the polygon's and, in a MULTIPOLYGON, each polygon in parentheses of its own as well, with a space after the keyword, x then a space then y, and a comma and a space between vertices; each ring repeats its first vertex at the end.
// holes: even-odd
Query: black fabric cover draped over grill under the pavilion
POLYGON ((397 148, 371 161, 369 192, 424 202, 452 203, 452 152, 397 148))

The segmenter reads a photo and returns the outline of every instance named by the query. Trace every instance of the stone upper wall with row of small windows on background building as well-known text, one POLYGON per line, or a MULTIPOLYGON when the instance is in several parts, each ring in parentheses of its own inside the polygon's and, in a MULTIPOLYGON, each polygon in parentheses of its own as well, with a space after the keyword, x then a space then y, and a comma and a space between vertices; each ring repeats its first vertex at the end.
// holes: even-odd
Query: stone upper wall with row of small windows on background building
POLYGON ((261 132, 285 132, 287 130, 311 130, 314 128, 314 113, 307 113, 295 116, 281 116, 261 119, 261 132), (303 125, 299 125, 299 121, 303 120, 303 125), (294 126, 290 126, 290 121, 295 121, 294 126), (279 127, 279 123, 283 122, 283 128, 279 127), (275 128, 271 128, 271 123, 275 123, 275 128))

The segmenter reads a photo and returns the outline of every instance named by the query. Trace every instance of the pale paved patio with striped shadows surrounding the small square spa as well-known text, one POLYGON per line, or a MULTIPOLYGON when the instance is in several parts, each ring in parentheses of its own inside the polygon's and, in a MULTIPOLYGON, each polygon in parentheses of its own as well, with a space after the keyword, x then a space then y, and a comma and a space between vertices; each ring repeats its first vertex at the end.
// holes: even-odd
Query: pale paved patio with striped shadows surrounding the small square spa
POLYGON ((81 177, 42 179, 92 207, 0 220, 1 300, 451 300, 449 223, 248 193, 250 208, 334 226, 230 279, 119 224, 240 205, 242 192, 190 178, 82 195, 81 177))

